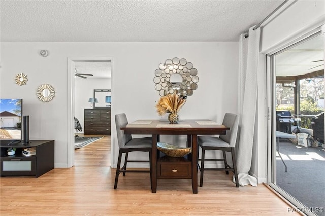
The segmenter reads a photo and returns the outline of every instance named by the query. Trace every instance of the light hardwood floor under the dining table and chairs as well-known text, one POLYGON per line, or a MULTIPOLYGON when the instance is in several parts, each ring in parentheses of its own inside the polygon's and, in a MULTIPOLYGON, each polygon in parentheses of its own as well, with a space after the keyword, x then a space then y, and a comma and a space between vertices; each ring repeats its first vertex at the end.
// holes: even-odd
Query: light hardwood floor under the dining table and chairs
POLYGON ((1 177, 0 214, 299 215, 288 213, 290 206, 263 184, 236 188, 232 175, 223 171, 206 171, 198 194, 192 193, 190 179, 158 179, 157 193, 151 193, 149 173, 120 175, 114 190, 116 169, 106 167, 102 159, 92 160, 98 157, 39 178, 1 177))

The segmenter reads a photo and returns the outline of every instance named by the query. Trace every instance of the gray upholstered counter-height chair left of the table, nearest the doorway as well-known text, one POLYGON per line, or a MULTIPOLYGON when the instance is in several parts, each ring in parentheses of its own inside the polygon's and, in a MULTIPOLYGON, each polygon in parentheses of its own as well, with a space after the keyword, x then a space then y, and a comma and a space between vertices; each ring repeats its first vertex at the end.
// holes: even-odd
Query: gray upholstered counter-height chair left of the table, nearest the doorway
POLYGON ((125 176, 126 172, 149 172, 150 173, 150 182, 151 182, 151 150, 152 150, 152 138, 143 137, 143 138, 132 138, 131 134, 124 134, 124 131, 121 130, 121 127, 125 127, 128 122, 125 113, 115 115, 115 124, 117 132, 117 141, 119 146, 118 161, 116 167, 115 183, 114 189, 117 188, 118 176, 120 173, 123 173, 125 176), (128 160, 129 152, 149 152, 149 160, 128 160), (121 160, 122 154, 125 153, 124 165, 122 168, 121 160), (128 162, 149 162, 150 170, 126 170, 126 165, 128 162))

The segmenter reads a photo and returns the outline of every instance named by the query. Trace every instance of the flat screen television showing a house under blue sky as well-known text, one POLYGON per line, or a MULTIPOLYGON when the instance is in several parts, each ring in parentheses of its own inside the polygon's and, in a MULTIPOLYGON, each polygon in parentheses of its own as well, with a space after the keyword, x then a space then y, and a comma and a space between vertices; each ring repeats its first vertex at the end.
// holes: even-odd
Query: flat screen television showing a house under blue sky
POLYGON ((0 99, 0 140, 23 139, 22 99, 0 99))

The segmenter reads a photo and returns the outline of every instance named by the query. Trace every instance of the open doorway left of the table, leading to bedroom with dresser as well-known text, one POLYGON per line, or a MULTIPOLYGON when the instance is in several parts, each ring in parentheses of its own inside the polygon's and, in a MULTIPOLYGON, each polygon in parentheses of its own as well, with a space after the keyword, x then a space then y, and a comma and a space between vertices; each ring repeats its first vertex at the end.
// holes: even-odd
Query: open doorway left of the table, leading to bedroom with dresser
MULTIPOLYGON (((68 162, 70 162, 71 166, 111 166, 111 128, 104 125, 105 132, 94 130, 92 133, 89 133, 89 127, 87 126, 87 123, 89 123, 87 121, 88 113, 100 114, 103 111, 111 111, 111 107, 114 106, 113 102, 109 104, 109 107, 105 105, 105 101, 104 107, 98 107, 99 103, 94 103, 94 99, 96 101, 103 99, 95 98, 95 89, 109 89, 110 96, 112 95, 111 62, 110 58, 69 58, 68 67, 71 74, 68 83, 71 84, 71 92, 68 94, 68 100, 71 101, 71 107, 68 107, 68 109, 71 110, 70 115, 73 121, 69 124, 71 128, 68 134, 68 147, 70 147, 68 148, 68 162), (76 144, 78 144, 76 146, 75 140, 76 144)), ((105 100, 105 97, 103 100, 105 100)), ((111 112, 106 115, 109 117, 107 124, 110 125, 111 112)), ((93 123, 97 124, 98 121, 93 123)))

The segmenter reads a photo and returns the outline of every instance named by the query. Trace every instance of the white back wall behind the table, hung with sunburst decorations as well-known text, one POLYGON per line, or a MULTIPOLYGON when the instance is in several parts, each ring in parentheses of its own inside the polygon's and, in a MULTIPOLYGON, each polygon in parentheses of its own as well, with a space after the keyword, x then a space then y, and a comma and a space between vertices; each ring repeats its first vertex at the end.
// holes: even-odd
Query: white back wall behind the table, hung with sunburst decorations
MULTIPOLYGON (((55 140, 55 167, 67 167, 68 57, 112 57, 112 113, 126 113, 129 122, 160 118, 154 89, 154 71, 168 58, 185 58, 198 69, 198 89, 179 115, 184 119, 222 121, 225 112, 237 112, 238 42, 147 43, 1 43, 0 97, 23 98, 30 117, 31 139, 55 140), (49 55, 39 55, 47 49, 49 55), (27 75, 26 85, 15 84, 17 73, 27 75), (48 83, 55 97, 48 103, 36 97, 39 85, 48 83), (114 88, 114 89, 113 89, 114 88)), ((87 103, 87 102, 86 102, 87 103)), ((167 118, 166 116, 163 118, 167 118)), ((114 163, 117 139, 113 134, 114 163)))

